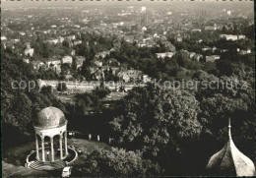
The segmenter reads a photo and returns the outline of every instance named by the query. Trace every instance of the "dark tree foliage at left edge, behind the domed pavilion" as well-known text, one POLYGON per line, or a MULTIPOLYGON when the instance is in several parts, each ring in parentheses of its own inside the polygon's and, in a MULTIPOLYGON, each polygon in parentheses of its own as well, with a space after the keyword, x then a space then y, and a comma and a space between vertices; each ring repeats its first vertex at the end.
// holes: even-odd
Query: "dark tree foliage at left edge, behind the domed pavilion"
POLYGON ((17 144, 10 140, 17 137, 26 140, 30 137, 33 133, 32 120, 40 109, 55 106, 65 112, 65 107, 52 95, 50 89, 42 89, 40 92, 30 64, 24 63, 22 59, 7 51, 3 51, 1 60, 1 116, 5 126, 2 132, 8 133, 7 130, 11 130, 13 133, 2 140, 4 148, 8 148, 17 144))

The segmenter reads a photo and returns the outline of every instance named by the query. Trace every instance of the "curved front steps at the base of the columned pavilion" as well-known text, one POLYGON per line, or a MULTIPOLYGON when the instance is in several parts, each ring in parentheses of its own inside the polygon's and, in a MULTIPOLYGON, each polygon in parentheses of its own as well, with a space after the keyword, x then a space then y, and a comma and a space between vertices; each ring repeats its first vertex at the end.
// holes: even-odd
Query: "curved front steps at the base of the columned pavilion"
POLYGON ((41 162, 35 160, 30 167, 35 170, 56 170, 62 169, 65 166, 66 164, 63 160, 57 160, 54 162, 41 162))

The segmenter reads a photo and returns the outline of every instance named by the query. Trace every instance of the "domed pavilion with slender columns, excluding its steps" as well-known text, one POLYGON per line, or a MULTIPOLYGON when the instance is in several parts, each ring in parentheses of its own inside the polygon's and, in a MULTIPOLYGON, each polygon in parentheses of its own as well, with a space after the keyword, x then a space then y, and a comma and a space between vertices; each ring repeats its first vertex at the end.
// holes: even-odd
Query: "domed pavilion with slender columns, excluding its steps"
POLYGON ((46 107, 38 113, 33 124, 36 160, 55 161, 68 155, 67 123, 63 112, 56 107, 46 107))

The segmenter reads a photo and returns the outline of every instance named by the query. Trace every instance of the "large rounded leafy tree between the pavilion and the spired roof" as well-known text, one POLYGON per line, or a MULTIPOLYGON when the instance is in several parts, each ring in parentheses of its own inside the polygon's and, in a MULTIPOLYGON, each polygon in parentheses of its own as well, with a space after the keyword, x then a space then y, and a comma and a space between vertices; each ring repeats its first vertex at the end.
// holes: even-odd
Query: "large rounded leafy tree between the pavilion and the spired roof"
POLYGON ((186 90, 135 88, 124 97, 122 110, 110 122, 115 141, 151 158, 179 154, 201 132, 199 103, 186 90))

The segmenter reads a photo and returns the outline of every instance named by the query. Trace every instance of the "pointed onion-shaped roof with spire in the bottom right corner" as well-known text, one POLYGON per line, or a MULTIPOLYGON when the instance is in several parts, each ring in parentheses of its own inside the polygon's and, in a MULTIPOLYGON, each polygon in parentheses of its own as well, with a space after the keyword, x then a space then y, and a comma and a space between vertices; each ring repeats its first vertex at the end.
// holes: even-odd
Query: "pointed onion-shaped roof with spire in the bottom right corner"
POLYGON ((253 176, 255 166, 250 158, 235 147, 228 125, 228 142, 224 148, 215 153, 209 160, 207 170, 211 175, 219 176, 253 176))

